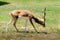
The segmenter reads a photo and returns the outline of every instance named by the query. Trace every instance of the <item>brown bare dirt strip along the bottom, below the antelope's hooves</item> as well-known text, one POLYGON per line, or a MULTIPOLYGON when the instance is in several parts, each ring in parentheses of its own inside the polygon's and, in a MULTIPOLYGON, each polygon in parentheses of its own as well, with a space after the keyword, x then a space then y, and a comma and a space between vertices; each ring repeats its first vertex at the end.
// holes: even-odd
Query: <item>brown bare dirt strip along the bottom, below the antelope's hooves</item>
POLYGON ((0 33, 1 40, 58 40, 59 35, 56 33, 0 33))

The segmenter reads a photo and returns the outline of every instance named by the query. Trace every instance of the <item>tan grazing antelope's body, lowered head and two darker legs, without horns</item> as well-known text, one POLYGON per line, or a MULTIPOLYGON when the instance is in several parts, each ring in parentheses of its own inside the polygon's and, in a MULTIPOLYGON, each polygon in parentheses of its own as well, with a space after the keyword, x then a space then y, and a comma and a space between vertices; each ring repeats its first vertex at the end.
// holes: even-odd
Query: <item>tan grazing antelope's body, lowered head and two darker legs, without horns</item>
POLYGON ((38 31, 36 30, 35 25, 32 22, 33 20, 36 23, 38 23, 38 24, 42 25, 43 27, 45 27, 45 19, 38 18, 30 10, 14 10, 10 13, 10 15, 12 17, 12 20, 9 22, 9 24, 13 21, 13 26, 15 27, 17 32, 19 32, 19 30, 16 27, 16 22, 17 22, 18 18, 20 18, 20 17, 27 17, 36 32, 38 32, 38 31))

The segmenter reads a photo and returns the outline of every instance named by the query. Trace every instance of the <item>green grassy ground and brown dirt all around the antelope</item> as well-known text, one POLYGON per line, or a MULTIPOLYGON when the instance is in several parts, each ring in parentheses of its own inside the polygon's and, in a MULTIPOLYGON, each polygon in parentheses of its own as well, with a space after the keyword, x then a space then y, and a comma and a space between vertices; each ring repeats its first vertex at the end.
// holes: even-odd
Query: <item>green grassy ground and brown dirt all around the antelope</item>
POLYGON ((1 40, 60 40, 60 0, 0 0, 0 39, 1 40), (2 3, 3 2, 3 3, 2 3), (4 3, 6 2, 6 3, 4 3), (42 18, 42 10, 46 10, 46 27, 35 23, 36 29, 40 33, 36 33, 28 22, 26 31, 24 32, 24 19, 17 21, 17 28, 22 31, 17 33, 12 24, 5 32, 6 24, 11 17, 9 13, 13 10, 32 10, 33 13, 42 18), (33 31, 33 33, 31 33, 33 31), (47 34, 43 32, 47 31, 47 34))

